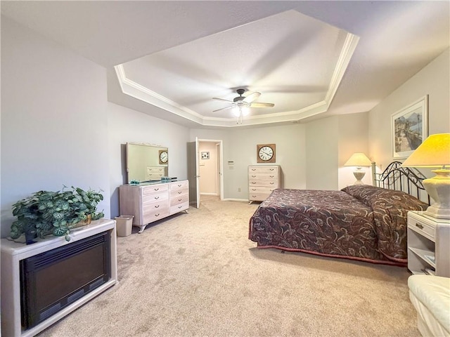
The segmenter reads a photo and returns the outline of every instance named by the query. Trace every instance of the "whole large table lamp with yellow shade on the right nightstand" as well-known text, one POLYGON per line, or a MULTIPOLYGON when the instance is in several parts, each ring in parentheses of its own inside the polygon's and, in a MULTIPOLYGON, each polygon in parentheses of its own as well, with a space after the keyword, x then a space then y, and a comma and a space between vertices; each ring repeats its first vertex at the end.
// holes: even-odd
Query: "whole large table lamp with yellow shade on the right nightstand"
POLYGON ((425 214, 450 219, 450 133, 431 135, 404 161, 405 167, 438 167, 436 176, 423 180, 423 187, 435 200, 425 214))

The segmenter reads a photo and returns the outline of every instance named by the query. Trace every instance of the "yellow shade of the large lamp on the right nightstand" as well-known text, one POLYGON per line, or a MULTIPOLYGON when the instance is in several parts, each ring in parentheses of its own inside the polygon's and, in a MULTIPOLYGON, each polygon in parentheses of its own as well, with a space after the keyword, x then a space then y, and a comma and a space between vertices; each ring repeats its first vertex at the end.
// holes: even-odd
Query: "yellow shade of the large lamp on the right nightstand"
POLYGON ((405 167, 450 165, 450 133, 431 135, 404 161, 405 167))

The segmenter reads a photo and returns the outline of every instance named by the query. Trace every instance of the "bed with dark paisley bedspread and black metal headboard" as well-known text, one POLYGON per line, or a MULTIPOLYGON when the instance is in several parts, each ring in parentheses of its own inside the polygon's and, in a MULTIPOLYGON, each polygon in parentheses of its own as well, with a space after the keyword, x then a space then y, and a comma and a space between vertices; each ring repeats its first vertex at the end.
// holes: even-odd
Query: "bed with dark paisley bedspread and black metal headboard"
POLYGON ((406 266, 407 212, 429 205, 418 199, 423 178, 395 161, 374 174, 374 186, 276 189, 250 218, 249 239, 258 248, 406 266))

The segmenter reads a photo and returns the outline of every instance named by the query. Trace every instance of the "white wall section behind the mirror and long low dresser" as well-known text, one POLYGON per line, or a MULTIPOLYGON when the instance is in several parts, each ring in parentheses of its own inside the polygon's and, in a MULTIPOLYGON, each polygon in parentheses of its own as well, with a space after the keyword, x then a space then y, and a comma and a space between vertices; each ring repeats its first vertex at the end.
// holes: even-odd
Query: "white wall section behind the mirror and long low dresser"
POLYGON ((120 215, 119 186, 127 183, 127 143, 148 143, 167 147, 169 176, 187 179, 186 143, 189 130, 184 126, 108 103, 108 143, 111 216, 120 215))

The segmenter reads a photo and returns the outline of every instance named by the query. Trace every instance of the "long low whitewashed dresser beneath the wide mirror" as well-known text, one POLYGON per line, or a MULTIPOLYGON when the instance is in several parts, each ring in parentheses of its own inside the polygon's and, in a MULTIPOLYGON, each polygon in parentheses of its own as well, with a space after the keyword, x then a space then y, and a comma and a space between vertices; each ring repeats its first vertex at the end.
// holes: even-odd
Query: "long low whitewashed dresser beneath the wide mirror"
POLYGON ((133 225, 140 227, 189 208, 188 180, 141 183, 119 187, 120 213, 134 216, 133 225))

